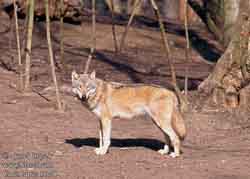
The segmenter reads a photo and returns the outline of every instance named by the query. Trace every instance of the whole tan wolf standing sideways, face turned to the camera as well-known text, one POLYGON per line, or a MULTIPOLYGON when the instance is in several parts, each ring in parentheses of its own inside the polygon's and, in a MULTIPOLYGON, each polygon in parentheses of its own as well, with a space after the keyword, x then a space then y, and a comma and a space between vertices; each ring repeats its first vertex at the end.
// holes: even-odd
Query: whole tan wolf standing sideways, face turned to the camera
POLYGON ((158 152, 169 153, 170 139, 174 148, 170 156, 180 155, 186 127, 174 92, 154 85, 106 82, 96 78, 95 72, 89 75, 77 74, 75 71, 72 72, 72 91, 80 99, 85 99, 90 110, 100 118, 100 140, 99 148, 95 149, 96 154, 108 152, 112 118, 148 114, 166 138, 164 148, 158 152))

